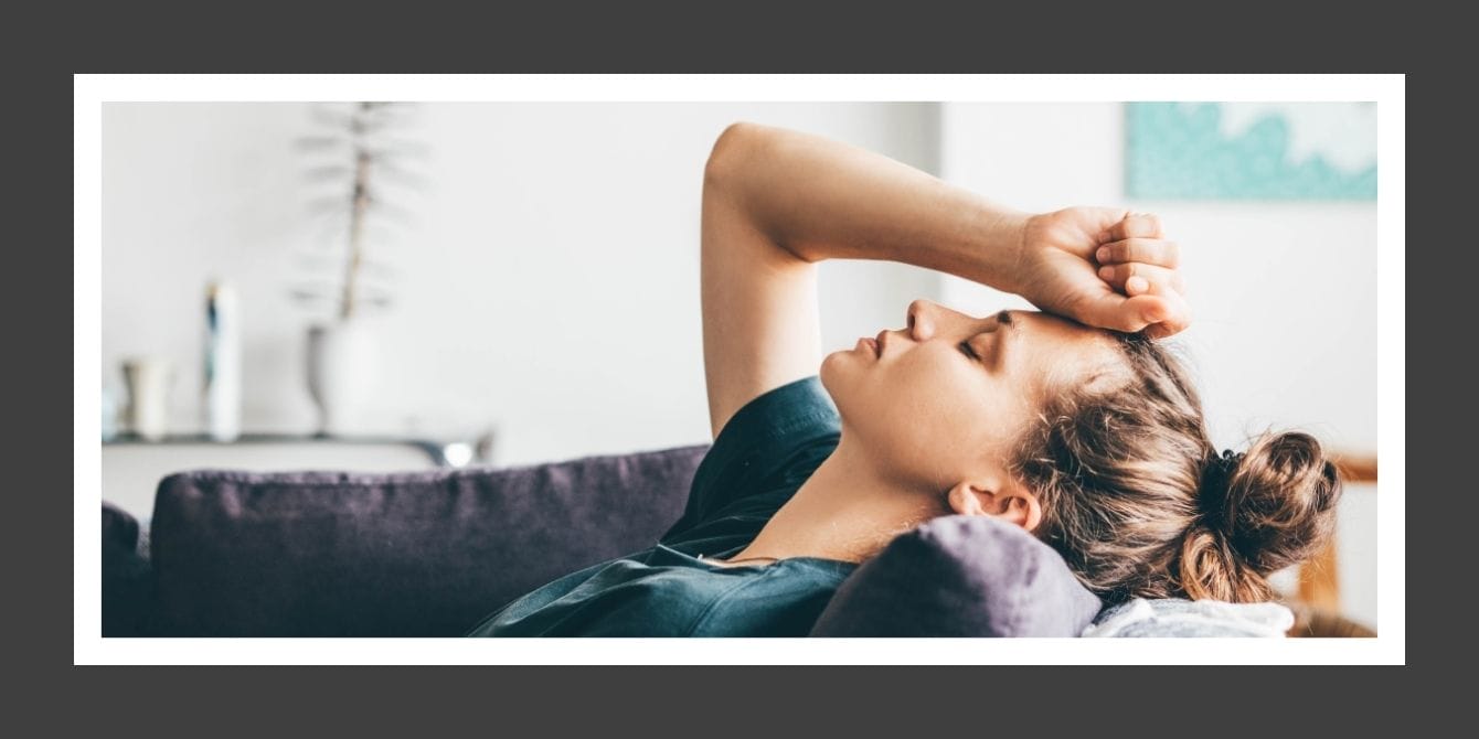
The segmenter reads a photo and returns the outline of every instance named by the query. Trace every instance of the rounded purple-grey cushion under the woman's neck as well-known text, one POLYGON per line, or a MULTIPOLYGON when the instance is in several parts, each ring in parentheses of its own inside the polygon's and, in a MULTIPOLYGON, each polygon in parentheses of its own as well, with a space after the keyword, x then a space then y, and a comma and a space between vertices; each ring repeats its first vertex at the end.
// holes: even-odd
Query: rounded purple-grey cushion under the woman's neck
POLYGON ((1077 637, 1102 603, 1047 544, 986 516, 893 539, 846 582, 818 637, 1077 637))

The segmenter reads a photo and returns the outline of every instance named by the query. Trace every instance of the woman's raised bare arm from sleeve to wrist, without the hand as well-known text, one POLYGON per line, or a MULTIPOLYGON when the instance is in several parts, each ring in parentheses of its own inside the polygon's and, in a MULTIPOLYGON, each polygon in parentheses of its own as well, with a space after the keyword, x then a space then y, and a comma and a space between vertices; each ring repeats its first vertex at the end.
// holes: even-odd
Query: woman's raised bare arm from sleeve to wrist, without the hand
POLYGON ((1010 290, 1025 214, 879 154, 735 124, 704 171, 704 374, 714 436, 760 393, 816 372, 816 268, 889 259, 1010 290))

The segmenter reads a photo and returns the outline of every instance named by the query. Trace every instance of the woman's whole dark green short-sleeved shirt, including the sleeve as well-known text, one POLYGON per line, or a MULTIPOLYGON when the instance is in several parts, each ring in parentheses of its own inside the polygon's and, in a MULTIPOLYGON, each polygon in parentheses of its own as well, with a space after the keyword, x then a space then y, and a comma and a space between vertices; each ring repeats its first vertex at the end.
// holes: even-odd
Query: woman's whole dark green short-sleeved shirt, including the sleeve
POLYGON ((476 637, 800 637, 856 568, 788 557, 722 566, 837 448, 842 418, 810 375, 745 403, 719 432, 683 516, 657 545, 586 568, 509 603, 476 637))

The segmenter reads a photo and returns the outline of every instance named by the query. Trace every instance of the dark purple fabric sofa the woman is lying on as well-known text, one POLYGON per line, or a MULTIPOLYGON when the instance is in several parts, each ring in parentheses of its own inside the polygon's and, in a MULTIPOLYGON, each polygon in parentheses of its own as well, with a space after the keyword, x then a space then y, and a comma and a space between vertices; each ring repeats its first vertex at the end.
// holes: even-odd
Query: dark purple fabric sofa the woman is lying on
MULTIPOLYGON (((389 474, 170 474, 146 520, 102 505, 104 636, 457 637, 544 582, 651 547, 683 511, 707 449, 389 474)), ((1106 607, 1022 529, 948 516, 858 568, 812 636, 1075 637, 1134 615, 1127 606, 1106 607)), ((1189 603, 1137 606, 1134 630, 1105 636, 1165 636, 1155 615, 1189 603)), ((1186 636, 1268 636, 1165 618, 1186 636)))

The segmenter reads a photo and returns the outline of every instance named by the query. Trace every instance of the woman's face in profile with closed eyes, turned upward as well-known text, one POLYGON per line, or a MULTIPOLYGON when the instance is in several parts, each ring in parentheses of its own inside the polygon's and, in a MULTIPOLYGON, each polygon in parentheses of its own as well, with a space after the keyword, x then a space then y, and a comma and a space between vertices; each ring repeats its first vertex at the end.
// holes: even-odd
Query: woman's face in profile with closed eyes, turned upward
POLYGON ((821 367, 843 436, 895 482, 932 489, 1001 473, 1053 393, 1126 377, 1105 331, 1029 310, 972 318, 929 300, 910 303, 907 328, 821 367))

